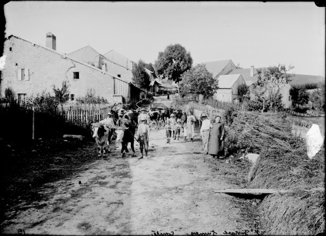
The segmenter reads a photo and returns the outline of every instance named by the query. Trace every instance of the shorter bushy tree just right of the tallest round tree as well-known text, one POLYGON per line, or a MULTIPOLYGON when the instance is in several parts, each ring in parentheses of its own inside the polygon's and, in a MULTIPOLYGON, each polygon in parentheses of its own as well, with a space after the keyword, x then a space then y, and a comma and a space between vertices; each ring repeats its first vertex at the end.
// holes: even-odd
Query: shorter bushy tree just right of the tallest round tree
POLYGON ((213 74, 208 72, 205 64, 197 64, 181 75, 179 82, 180 93, 203 94, 208 98, 218 89, 218 82, 213 79, 213 74))

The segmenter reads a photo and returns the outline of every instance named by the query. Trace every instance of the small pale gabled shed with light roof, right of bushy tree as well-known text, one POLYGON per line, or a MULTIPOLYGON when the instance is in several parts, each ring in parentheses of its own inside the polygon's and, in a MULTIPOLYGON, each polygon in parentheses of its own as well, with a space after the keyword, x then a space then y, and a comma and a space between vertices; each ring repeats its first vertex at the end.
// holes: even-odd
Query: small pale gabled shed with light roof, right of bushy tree
POLYGON ((238 98, 237 89, 240 85, 245 84, 240 74, 220 75, 218 77, 218 89, 214 94, 214 98, 223 102, 233 102, 238 98))

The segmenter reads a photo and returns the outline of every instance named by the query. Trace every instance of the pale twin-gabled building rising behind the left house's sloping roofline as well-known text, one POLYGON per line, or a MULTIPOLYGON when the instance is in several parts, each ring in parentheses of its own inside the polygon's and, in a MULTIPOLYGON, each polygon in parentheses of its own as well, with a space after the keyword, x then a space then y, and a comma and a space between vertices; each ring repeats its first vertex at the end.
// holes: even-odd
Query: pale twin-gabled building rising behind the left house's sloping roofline
POLYGON ((132 82, 133 62, 114 50, 102 55, 92 47, 86 46, 67 55, 100 68, 128 82, 132 82))

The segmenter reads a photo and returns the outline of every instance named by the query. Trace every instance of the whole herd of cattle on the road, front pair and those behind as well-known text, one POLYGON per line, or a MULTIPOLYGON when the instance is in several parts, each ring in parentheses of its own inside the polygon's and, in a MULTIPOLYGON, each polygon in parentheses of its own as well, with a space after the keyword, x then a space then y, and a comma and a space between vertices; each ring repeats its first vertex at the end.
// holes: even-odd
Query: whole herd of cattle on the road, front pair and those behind
MULTIPOLYGON (((122 157, 125 152, 128 151, 128 143, 130 143, 133 155, 135 155, 134 140, 136 127, 138 126, 138 116, 141 113, 141 109, 136 110, 113 110, 111 108, 111 114, 114 120, 114 124, 106 126, 101 123, 92 124, 92 137, 95 138, 95 142, 98 147, 99 156, 103 156, 106 150, 110 152, 110 143, 112 141, 113 134, 117 134, 117 142, 121 142, 121 153, 122 157)), ((176 118, 181 118, 182 110, 178 108, 163 108, 163 107, 153 107, 151 111, 148 112, 150 120, 157 126, 157 117, 160 114, 162 121, 166 121, 170 118, 172 113, 176 118)), ((155 128, 156 128, 155 126, 155 128)))

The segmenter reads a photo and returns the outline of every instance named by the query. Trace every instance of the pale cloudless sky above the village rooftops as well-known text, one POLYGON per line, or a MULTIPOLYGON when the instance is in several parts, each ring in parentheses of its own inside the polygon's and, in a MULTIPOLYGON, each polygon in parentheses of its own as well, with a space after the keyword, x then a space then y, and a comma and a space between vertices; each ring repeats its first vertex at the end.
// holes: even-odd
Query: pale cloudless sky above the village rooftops
POLYGON ((325 7, 314 2, 10 1, 6 35, 57 51, 91 46, 154 63, 170 44, 181 44, 193 64, 232 59, 242 68, 293 65, 289 72, 325 77, 325 7))

